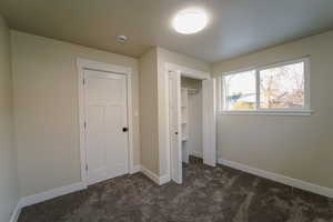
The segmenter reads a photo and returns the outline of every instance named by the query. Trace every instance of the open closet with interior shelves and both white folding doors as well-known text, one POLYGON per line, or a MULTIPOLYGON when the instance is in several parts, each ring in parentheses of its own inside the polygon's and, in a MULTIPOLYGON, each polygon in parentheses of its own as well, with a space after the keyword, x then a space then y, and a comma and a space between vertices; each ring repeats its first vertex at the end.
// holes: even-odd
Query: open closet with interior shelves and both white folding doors
POLYGON ((169 172, 182 183, 182 165, 190 157, 216 164, 215 82, 179 65, 167 71, 169 172))

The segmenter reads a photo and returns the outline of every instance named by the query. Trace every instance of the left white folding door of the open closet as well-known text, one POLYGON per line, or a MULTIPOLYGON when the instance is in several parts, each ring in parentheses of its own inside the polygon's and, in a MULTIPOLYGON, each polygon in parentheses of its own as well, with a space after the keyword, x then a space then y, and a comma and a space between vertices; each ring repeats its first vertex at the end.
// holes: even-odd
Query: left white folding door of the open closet
POLYGON ((181 132, 181 79, 180 73, 169 73, 169 138, 171 180, 182 183, 181 132))

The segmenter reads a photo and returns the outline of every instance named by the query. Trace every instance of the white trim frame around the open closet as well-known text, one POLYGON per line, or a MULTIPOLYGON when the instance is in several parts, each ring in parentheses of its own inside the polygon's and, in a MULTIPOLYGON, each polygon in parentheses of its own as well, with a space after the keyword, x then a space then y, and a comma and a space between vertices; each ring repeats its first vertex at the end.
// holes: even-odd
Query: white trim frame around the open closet
POLYGON ((200 70, 195 70, 195 69, 191 69, 188 67, 183 67, 183 65, 179 65, 175 63, 170 63, 170 62, 165 62, 164 63, 164 89, 165 89, 165 115, 164 115, 164 121, 167 122, 165 124, 165 147, 167 147, 167 171, 168 171, 168 175, 169 175, 169 180, 172 180, 172 174, 171 174, 171 144, 170 144, 170 120, 169 120, 169 72, 170 71, 174 71, 176 73, 180 74, 180 77, 189 77, 189 78, 193 78, 193 79, 199 79, 199 80, 209 80, 212 79, 211 74, 209 72, 203 72, 200 70))

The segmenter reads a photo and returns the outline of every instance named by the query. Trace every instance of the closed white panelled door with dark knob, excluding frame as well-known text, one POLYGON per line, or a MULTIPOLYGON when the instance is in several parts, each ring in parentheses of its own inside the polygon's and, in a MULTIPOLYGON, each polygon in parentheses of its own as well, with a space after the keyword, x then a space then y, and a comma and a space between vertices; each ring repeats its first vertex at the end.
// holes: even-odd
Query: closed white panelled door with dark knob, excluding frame
POLYGON ((127 77, 84 70, 88 183, 128 173, 127 77))

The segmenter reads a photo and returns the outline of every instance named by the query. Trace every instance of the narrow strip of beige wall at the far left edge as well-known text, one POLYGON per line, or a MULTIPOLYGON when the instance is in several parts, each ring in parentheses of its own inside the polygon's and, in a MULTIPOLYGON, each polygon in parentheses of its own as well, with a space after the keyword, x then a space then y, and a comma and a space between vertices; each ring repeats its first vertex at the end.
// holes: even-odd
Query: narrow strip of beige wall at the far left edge
POLYGON ((10 219, 19 200, 13 144, 12 77, 9 29, 0 16, 0 221, 10 219))

